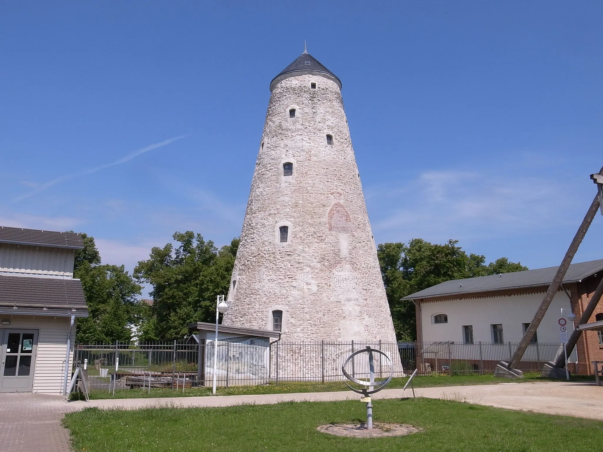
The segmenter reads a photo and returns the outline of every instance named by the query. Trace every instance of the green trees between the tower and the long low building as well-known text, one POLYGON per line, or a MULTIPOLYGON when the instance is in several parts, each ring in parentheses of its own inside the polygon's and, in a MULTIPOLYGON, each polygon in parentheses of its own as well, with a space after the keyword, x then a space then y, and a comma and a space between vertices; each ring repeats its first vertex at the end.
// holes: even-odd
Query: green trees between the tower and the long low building
POLYGON ((527 270, 520 263, 501 257, 485 265, 485 257, 467 254, 458 240, 443 244, 412 239, 405 243, 382 243, 377 256, 390 304, 396 337, 399 341, 416 339, 415 306, 403 297, 444 281, 527 270))

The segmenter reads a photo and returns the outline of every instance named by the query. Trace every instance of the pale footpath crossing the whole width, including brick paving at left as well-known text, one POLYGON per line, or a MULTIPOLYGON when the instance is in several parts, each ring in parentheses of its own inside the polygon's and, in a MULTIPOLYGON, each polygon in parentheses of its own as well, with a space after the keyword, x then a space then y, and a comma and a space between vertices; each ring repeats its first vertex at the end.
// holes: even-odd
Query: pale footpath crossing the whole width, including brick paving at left
MULTIPOLYGON (((590 383, 542 382, 499 385, 443 386, 415 389, 417 397, 466 401, 512 410, 603 420, 603 386, 590 383)), ((384 389, 379 398, 411 397, 410 389, 384 389)), ((84 407, 136 410, 153 407, 223 407, 289 401, 358 400, 352 391, 295 394, 226 395, 217 397, 130 398, 74 401, 31 393, 0 393, 0 445, 2 452, 69 451, 69 432, 60 421, 68 412, 84 407)))

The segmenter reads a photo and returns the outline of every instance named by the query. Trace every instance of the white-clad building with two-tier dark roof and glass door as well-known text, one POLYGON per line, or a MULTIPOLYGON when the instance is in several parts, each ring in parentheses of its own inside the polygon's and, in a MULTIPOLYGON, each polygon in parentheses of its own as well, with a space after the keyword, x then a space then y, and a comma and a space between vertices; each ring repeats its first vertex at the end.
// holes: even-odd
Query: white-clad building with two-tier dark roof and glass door
POLYGON ((88 316, 74 279, 80 234, 0 227, 0 392, 64 394, 77 319, 88 316))

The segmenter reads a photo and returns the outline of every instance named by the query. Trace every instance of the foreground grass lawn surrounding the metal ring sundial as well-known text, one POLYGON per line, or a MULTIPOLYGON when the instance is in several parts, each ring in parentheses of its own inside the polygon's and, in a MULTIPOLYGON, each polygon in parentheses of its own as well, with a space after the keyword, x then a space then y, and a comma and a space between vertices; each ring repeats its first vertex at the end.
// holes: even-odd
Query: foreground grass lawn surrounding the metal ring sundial
POLYGON ((601 451, 603 422, 455 401, 374 401, 376 422, 425 428, 400 438, 319 433, 330 422, 364 420, 359 401, 70 413, 75 450, 146 451, 601 451))

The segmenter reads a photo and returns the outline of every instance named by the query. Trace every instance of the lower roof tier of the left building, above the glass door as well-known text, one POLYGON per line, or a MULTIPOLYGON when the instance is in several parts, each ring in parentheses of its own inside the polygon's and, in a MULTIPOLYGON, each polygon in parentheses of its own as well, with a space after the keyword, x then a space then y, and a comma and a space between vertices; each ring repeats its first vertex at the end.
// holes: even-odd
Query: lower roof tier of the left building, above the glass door
POLYGON ((0 314, 88 316, 81 281, 0 275, 0 314))

